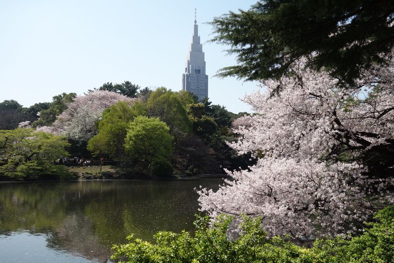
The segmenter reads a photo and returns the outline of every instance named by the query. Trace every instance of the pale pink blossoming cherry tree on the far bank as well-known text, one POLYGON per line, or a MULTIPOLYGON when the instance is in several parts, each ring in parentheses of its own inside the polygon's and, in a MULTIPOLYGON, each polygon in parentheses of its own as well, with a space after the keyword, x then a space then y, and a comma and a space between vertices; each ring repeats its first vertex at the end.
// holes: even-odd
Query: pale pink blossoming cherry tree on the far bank
POLYGON ((67 109, 57 117, 53 124, 54 130, 72 140, 87 142, 97 134, 96 122, 101 118, 104 109, 118 101, 129 102, 132 105, 135 100, 104 90, 95 90, 85 96, 78 96, 67 104, 67 109))

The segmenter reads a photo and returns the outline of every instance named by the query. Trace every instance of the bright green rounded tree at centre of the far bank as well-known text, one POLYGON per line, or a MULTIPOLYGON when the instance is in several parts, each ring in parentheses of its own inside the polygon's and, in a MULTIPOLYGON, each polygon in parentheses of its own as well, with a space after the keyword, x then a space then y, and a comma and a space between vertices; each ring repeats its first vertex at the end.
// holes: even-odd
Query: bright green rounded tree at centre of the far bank
POLYGON ((171 157, 172 141, 169 127, 159 118, 137 116, 127 129, 125 150, 131 158, 148 167, 155 160, 171 157))

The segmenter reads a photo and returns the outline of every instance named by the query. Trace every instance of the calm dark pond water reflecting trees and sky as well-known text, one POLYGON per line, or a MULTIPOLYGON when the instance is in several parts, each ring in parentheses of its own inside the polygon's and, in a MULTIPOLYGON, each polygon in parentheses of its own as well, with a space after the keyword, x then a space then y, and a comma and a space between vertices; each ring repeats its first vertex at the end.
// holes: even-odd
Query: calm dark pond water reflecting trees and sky
POLYGON ((200 185, 177 181, 0 184, 0 263, 106 262, 126 236, 193 229, 200 185))

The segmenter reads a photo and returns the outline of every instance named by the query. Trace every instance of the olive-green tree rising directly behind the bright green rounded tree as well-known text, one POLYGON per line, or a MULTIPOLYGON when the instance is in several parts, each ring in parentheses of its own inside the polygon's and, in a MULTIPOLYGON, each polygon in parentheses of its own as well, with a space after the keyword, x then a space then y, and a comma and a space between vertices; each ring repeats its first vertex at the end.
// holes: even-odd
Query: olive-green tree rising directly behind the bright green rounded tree
POLYGON ((192 123, 175 92, 160 87, 152 92, 146 104, 148 117, 158 117, 179 137, 191 131, 192 123))

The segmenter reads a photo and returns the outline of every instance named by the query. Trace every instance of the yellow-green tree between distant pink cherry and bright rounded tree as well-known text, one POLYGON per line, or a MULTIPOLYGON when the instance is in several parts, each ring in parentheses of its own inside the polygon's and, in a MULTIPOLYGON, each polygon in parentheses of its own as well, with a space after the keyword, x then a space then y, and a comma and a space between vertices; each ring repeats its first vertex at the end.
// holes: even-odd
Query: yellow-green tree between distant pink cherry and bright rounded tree
POLYGON ((127 102, 120 101, 105 109, 98 124, 99 133, 88 142, 88 150, 95 156, 108 154, 123 165, 127 158, 124 143, 132 118, 132 110, 127 102))

